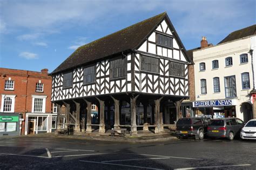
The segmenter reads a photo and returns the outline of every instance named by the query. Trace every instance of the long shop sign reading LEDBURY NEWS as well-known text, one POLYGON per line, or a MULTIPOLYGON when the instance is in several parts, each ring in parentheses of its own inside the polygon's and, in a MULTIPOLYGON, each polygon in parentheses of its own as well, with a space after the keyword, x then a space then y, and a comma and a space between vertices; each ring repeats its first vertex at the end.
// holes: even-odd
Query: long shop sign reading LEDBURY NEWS
POLYGON ((225 105, 235 105, 236 100, 212 100, 212 101, 196 101, 193 102, 193 108, 198 107, 220 107, 225 105))

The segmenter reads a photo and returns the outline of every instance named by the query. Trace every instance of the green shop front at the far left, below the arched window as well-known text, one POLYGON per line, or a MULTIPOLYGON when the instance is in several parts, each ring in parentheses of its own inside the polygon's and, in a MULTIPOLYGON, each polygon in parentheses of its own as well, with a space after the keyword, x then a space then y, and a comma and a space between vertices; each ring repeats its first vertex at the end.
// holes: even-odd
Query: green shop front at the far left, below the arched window
POLYGON ((18 136, 19 114, 0 114, 0 136, 18 136))

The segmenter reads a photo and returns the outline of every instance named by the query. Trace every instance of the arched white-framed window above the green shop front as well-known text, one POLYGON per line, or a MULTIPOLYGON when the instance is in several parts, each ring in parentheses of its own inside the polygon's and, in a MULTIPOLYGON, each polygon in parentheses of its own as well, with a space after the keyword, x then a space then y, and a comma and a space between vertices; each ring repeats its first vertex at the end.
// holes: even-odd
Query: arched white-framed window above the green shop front
POLYGON ((16 95, 2 95, 1 112, 14 112, 16 95))

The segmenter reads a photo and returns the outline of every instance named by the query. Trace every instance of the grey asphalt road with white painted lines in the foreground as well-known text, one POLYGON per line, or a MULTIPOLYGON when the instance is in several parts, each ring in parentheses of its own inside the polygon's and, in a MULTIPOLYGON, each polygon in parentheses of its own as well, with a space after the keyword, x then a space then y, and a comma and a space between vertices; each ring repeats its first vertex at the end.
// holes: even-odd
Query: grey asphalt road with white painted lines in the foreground
POLYGON ((256 169, 255 141, 0 138, 0 169, 256 169))

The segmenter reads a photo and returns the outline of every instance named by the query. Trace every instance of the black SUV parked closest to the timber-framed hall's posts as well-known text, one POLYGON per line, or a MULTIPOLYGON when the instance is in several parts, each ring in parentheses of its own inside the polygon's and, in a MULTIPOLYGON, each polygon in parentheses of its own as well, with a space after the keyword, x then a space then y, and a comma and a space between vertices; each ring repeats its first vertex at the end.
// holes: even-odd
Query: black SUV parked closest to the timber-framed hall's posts
POLYGON ((208 121, 203 117, 180 118, 176 123, 177 138, 199 136, 203 139, 207 133, 208 121))

